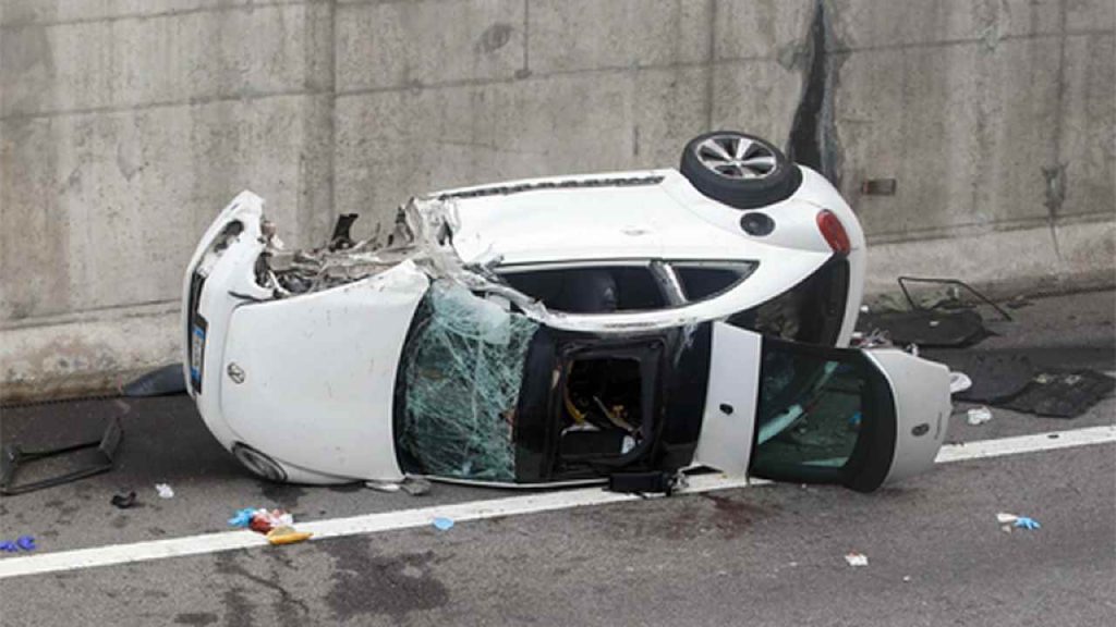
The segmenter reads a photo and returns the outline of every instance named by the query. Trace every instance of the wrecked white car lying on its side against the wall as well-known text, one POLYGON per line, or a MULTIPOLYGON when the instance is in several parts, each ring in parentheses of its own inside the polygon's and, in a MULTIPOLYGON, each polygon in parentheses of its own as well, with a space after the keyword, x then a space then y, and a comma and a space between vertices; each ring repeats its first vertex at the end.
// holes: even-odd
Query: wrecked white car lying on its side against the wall
POLYGON ((870 491, 929 469, 944 366, 846 348, 864 235, 820 175, 713 133, 682 166, 410 201, 287 252, 240 194, 186 272, 205 424, 275 481, 501 485, 698 466, 870 491))

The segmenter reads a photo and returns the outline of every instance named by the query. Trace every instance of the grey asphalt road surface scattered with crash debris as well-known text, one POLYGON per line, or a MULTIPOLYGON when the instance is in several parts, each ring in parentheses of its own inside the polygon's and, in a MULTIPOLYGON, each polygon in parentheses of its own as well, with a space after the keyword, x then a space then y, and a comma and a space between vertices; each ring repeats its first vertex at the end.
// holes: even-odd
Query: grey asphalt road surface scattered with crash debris
MULTIPOLYGON (((1113 310, 1112 292, 1036 301, 975 349, 1113 372, 1113 310)), ((1110 425, 1116 399, 1072 421, 993 412, 981 426, 955 418, 947 440, 1110 425)), ((2 539, 68 551, 223 531, 242 507, 306 521, 507 495, 257 481, 181 397, 9 408, 0 435, 48 446, 96 436, 112 415, 125 427, 117 469, 0 500, 2 539), (162 482, 174 499, 157 498, 162 482), (127 490, 141 505, 113 508, 127 490)), ((0 624, 1112 625, 1114 479, 1103 444, 951 463, 869 495, 764 485, 15 577, 0 580, 0 624), (1006 533, 1000 511, 1042 529, 1006 533), (849 567, 850 551, 868 566, 849 567)))

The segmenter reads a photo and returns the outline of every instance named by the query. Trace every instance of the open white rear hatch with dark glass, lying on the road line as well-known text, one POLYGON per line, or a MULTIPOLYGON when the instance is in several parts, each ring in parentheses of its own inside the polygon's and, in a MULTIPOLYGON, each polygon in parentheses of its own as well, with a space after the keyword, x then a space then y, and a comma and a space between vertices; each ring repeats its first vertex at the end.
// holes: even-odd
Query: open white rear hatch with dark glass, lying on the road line
POLYGON ((898 349, 796 344, 713 324, 694 454, 729 474, 869 492, 933 466, 949 369, 898 349))

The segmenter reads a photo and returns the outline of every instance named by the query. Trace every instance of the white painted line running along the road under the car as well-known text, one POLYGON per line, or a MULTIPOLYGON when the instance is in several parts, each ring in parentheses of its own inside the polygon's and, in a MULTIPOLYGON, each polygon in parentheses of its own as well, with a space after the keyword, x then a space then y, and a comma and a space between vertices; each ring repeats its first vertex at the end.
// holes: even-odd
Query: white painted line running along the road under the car
MULTIPOLYGON (((1001 440, 983 440, 965 444, 951 444, 942 447, 937 463, 962 462, 1037 453, 1090 444, 1116 443, 1116 425, 1106 425, 1072 431, 1039 433, 1004 437, 1001 440)), ((731 488, 748 488, 769 482, 762 480, 744 480, 728 478, 720 474, 704 474, 690 478, 686 492, 710 492, 731 488)), ((362 533, 379 533, 397 529, 426 527, 435 518, 443 517, 456 522, 483 520, 498 517, 565 510, 586 505, 602 505, 638 500, 639 496, 606 492, 600 488, 584 488, 507 496, 487 501, 472 501, 448 505, 433 505, 410 510, 355 515, 350 518, 317 520, 298 523, 299 531, 310 531, 314 540, 338 538, 362 533)), ((215 553, 232 549, 262 547, 267 540, 252 531, 224 531, 190 536, 170 540, 153 540, 131 544, 110 544, 74 551, 58 551, 37 556, 13 557, 0 559, 0 579, 41 575, 81 568, 95 568, 132 563, 138 561, 176 558, 215 553)))

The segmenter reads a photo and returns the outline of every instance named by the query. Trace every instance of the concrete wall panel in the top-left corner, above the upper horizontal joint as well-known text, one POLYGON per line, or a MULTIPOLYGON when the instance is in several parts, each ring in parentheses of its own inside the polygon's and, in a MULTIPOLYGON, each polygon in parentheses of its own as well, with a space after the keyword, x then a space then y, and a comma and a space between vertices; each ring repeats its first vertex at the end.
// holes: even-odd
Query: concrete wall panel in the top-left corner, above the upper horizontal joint
POLYGON ((299 4, 9 29, 0 39, 2 113, 320 90, 311 46, 328 18, 323 7, 299 4))

